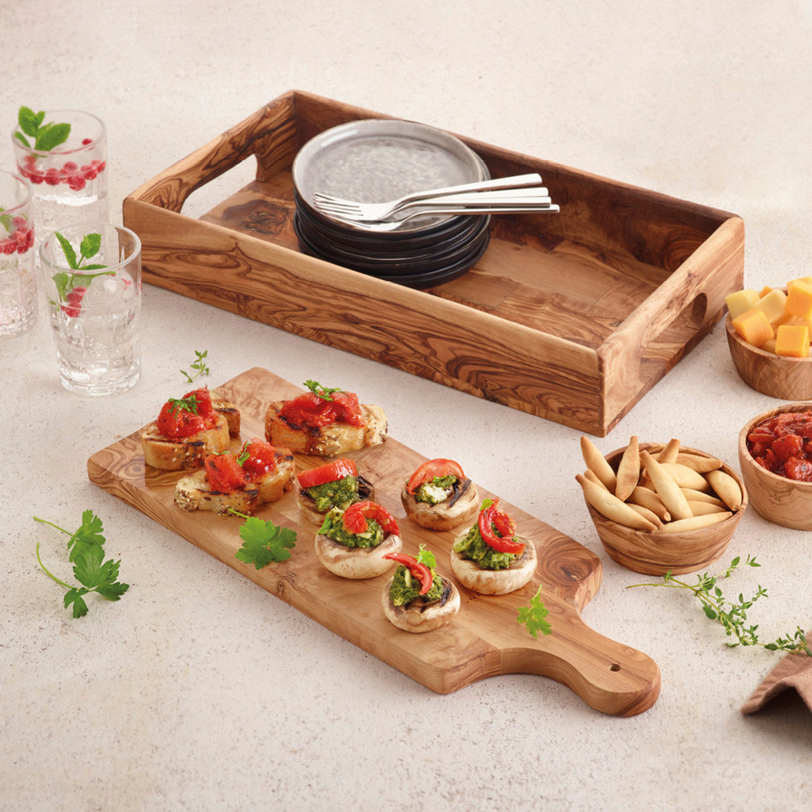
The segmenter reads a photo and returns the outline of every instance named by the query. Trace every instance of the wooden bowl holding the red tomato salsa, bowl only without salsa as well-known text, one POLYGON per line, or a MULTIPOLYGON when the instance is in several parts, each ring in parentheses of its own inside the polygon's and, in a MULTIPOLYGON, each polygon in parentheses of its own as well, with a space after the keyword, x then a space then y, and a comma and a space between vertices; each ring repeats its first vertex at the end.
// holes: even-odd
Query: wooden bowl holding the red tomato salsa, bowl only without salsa
POLYGON ((739 434, 739 465, 753 507, 775 525, 812 530, 812 482, 797 482, 762 468, 747 449, 747 435, 758 423, 783 412, 806 412, 812 403, 784 404, 754 417, 739 434))

